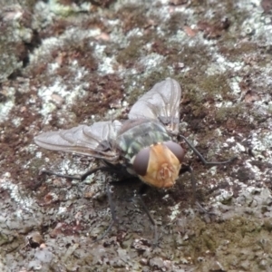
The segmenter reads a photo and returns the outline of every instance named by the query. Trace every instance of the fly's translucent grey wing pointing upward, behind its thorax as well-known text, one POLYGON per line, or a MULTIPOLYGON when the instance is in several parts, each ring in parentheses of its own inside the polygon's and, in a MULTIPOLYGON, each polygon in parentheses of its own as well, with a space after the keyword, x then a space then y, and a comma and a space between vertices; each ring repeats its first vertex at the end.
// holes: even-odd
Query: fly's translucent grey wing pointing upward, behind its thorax
POLYGON ((129 119, 159 120, 173 133, 179 132, 180 84, 167 78, 153 86, 136 102, 129 113, 129 119))

